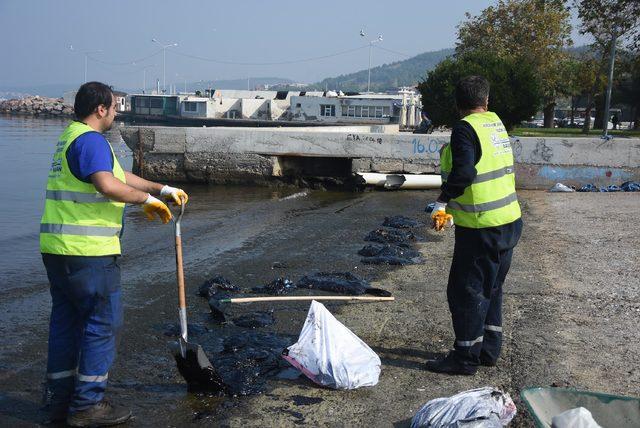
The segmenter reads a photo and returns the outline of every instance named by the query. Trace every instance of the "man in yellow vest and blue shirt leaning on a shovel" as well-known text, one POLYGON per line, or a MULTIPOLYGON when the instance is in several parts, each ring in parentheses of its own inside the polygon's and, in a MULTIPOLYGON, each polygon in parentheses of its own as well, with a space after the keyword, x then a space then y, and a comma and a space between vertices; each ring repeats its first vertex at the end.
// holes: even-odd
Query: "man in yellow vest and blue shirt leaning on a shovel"
POLYGON ((76 121, 53 155, 40 224, 40 252, 52 298, 47 360, 51 422, 106 426, 130 418, 104 400, 122 326, 120 235, 126 203, 142 205, 149 220, 171 220, 156 194, 180 205, 187 194, 122 169, 102 135, 115 118, 116 100, 99 82, 80 87, 76 121))

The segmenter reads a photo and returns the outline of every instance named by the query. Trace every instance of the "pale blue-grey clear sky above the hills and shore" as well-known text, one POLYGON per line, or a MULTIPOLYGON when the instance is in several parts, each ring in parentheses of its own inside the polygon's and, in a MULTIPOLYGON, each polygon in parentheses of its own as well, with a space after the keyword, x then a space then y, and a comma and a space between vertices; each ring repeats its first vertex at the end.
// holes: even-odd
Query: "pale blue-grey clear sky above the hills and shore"
POLYGON ((149 86, 163 79, 153 38, 178 44, 165 50, 167 85, 252 76, 312 83, 366 69, 378 35, 374 46, 386 50, 372 50, 373 66, 453 47, 465 12, 494 3, 0 0, 0 86, 80 84, 85 57, 88 80, 132 88, 146 77, 149 86))

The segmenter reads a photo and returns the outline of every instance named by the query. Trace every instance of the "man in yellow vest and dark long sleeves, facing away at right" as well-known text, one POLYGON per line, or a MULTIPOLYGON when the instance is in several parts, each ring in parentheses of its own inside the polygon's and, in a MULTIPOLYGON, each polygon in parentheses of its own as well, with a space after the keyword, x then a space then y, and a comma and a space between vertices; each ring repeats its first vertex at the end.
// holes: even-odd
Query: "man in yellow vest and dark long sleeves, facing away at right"
POLYGON ((455 89, 460 117, 441 150, 441 194, 434 229, 455 224, 447 285, 453 350, 427 370, 472 375, 494 366, 502 347, 502 287, 522 233, 509 135, 489 111, 489 82, 461 79, 455 89))

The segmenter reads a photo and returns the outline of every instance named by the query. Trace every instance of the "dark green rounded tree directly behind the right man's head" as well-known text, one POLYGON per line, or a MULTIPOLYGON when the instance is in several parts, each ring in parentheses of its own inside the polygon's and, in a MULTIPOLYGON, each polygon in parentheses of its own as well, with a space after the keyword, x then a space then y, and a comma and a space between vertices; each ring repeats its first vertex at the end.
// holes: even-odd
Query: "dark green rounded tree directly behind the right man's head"
POLYGON ((540 106, 540 79, 533 65, 514 58, 469 53, 445 59, 418 85, 422 109, 434 125, 453 126, 459 119, 455 85, 469 75, 489 80, 489 109, 500 116, 507 129, 531 118, 540 106))

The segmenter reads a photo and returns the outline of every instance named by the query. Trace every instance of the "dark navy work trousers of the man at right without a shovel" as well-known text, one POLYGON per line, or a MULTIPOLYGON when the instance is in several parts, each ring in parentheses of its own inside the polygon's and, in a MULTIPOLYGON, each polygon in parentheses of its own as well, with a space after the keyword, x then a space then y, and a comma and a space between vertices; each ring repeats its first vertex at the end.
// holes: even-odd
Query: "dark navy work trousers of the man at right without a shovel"
POLYGON ((502 286, 522 220, 498 227, 456 226, 447 300, 456 335, 454 354, 465 365, 495 363, 502 347, 502 286))

